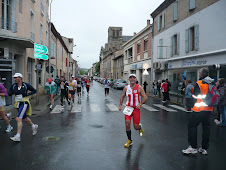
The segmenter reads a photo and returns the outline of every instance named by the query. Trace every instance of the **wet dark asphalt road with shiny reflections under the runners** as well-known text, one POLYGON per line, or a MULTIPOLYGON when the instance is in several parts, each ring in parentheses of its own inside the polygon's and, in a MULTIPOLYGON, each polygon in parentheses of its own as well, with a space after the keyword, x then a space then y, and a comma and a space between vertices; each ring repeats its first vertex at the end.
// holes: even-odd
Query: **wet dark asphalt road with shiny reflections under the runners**
MULTIPOLYGON (((150 97, 146 104, 158 111, 141 109, 144 136, 132 129, 133 146, 124 148, 124 115, 107 107, 118 106, 121 93, 122 90, 110 89, 105 100, 103 87, 94 82, 89 98, 83 93, 81 112, 70 113, 66 105, 64 113, 49 111, 32 117, 39 125, 38 133, 32 136, 31 128, 24 124, 20 143, 9 140, 16 130, 5 133, 1 120, 0 169, 226 169, 225 128, 216 127, 212 120, 208 155, 184 156, 181 150, 188 146, 189 113, 167 105, 176 112, 165 111, 154 105, 161 101, 150 97), (50 136, 59 140, 47 141, 50 136)), ((55 105, 59 103, 58 100, 55 105)), ((16 127, 15 120, 11 123, 16 127)), ((200 143, 201 127, 198 136, 200 143)))

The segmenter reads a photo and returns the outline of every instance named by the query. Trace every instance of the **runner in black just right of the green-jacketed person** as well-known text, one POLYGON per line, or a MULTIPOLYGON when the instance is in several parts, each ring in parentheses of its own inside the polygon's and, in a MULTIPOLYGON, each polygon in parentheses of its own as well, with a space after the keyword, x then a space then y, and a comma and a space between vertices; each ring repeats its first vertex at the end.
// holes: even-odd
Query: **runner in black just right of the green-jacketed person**
POLYGON ((68 82, 65 80, 64 76, 60 77, 60 100, 61 100, 61 106, 64 106, 64 99, 68 102, 68 105, 70 105, 70 101, 68 100, 68 82))

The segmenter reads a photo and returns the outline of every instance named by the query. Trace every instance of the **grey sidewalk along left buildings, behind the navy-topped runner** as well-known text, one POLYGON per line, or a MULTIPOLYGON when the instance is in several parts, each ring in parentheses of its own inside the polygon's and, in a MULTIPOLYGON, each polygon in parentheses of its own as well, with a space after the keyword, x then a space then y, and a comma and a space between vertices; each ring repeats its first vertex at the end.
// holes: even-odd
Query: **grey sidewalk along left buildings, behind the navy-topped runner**
MULTIPOLYGON (((54 101, 56 101, 60 97, 60 95, 54 95, 54 101)), ((34 115, 41 115, 45 113, 46 110, 49 109, 50 101, 47 94, 41 94, 39 95, 39 103, 36 104, 36 97, 33 97, 30 99, 31 108, 32 108, 32 116, 34 115)), ((12 113, 12 118, 15 118, 17 116, 17 109, 12 107, 6 107, 5 113, 12 113)))

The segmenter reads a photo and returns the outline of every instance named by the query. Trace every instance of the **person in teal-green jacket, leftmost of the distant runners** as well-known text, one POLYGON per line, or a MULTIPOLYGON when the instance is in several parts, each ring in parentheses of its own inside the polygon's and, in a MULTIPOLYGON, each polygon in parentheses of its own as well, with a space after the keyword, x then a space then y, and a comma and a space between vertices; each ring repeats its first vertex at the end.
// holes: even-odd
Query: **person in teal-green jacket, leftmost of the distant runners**
POLYGON ((48 94, 49 100, 50 100, 50 106, 49 108, 52 109, 53 108, 53 94, 56 92, 57 89, 57 84, 52 81, 52 79, 48 79, 48 82, 46 82, 45 84, 45 90, 48 94))

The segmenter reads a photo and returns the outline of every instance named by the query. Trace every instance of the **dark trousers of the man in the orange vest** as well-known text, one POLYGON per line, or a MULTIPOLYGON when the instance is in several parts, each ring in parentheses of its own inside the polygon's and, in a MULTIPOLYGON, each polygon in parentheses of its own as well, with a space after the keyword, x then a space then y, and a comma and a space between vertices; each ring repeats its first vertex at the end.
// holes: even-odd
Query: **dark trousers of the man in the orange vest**
POLYGON ((197 128, 202 123, 202 148, 209 148, 210 137, 210 111, 194 112, 188 123, 188 143, 192 148, 197 148, 197 128))

